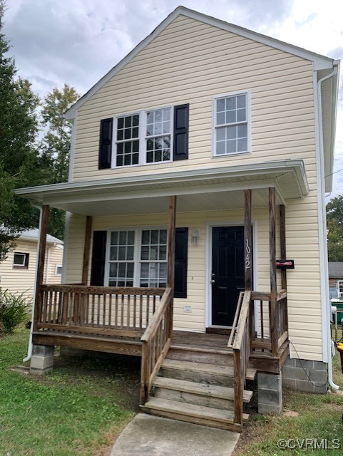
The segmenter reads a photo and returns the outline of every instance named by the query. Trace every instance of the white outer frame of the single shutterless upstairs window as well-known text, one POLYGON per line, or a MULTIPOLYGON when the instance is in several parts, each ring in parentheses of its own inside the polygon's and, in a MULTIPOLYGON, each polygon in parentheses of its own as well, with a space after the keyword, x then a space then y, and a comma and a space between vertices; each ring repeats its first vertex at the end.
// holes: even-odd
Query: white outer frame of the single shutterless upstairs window
MULTIPOLYGON (((245 122, 244 122, 245 123, 245 122)), ((232 124, 237 125, 237 123, 232 124)), ((232 157, 232 155, 242 155, 242 154, 250 154, 251 153, 251 91, 247 90, 237 90, 235 92, 229 93, 221 93, 220 95, 213 96, 212 99, 212 157, 213 158, 227 158, 232 157), (225 154, 217 155, 216 153, 216 140, 215 140, 215 132, 217 127, 217 99, 218 98, 230 98, 232 96, 237 95, 246 95, 247 98, 247 106, 246 106, 246 113, 247 113, 247 150, 243 150, 242 152, 230 152, 225 154)))

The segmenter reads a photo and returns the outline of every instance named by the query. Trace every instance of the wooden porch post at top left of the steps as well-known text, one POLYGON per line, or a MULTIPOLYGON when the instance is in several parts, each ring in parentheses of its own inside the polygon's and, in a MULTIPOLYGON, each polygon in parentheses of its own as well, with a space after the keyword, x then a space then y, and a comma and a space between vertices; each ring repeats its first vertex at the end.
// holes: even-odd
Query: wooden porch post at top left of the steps
POLYGON ((173 336, 173 296, 175 281, 175 218, 176 218, 176 197, 169 198, 169 220, 168 220, 168 269, 167 286, 172 289, 172 299, 170 304, 169 328, 170 339, 173 336))

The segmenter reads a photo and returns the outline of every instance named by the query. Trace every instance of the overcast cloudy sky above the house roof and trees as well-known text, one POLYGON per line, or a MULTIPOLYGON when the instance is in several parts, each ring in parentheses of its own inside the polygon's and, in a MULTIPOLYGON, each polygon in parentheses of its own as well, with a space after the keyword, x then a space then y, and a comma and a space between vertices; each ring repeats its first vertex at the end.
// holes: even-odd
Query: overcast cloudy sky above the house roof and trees
MULTIPOLYGON (((179 4, 343 59, 342 0, 7 0, 4 33, 39 95, 63 83, 82 95, 179 4)), ((334 171, 343 168, 342 82, 334 171)), ((343 171, 334 175, 337 194, 343 171)))

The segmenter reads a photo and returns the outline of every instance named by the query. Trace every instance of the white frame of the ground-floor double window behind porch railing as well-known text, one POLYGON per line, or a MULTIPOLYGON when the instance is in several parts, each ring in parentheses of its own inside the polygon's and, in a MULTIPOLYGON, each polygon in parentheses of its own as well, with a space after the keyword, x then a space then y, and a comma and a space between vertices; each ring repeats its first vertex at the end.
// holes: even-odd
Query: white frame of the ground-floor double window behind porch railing
MULTIPOLYGON (((167 263, 168 265, 168 227, 166 226, 148 226, 148 227, 111 227, 108 228, 107 230, 107 241, 106 241, 106 266, 105 266, 105 286, 108 285, 108 280, 109 280, 109 273, 110 273, 110 246, 111 246, 111 232, 113 231, 134 231, 135 232, 135 242, 134 242, 134 247, 133 247, 133 286, 140 288, 140 264, 146 263, 146 262, 155 262, 155 263, 167 263), (152 229, 165 229, 167 230, 167 253, 166 253, 166 259, 164 260, 141 260, 140 259, 140 249, 142 246, 141 243, 141 236, 142 232, 147 229, 147 230, 152 230, 152 229)), ((168 274, 168 271, 167 271, 168 274)), ((165 278, 165 281, 167 281, 168 276, 165 278)))

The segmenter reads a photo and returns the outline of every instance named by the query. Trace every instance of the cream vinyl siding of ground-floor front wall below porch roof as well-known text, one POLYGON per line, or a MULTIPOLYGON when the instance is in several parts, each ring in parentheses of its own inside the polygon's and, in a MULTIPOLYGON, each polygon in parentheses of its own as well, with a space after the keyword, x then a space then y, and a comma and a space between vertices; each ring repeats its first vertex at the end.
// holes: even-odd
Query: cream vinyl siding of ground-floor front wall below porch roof
MULTIPOLYGON (((317 234, 317 212, 311 201, 313 192, 301 201, 290 202, 286 207, 287 258, 295 260, 295 270, 287 271, 288 314, 290 341, 301 358, 322 360, 322 314, 320 303, 319 245, 317 234), (307 201, 308 200, 308 201, 307 201)), ((269 274, 269 227, 267 208, 252 209, 255 222, 254 247, 255 289, 270 290, 269 274)), ((80 282, 83 260, 83 241, 86 217, 71 216, 68 248, 68 282, 80 282), (81 246, 81 248, 79 248, 81 246)), ((175 299, 174 326, 177 329, 205 331, 206 283, 206 239, 208 224, 242 224, 243 211, 178 212, 177 227, 189 228, 188 239, 188 297, 175 299), (190 243, 194 228, 200 228, 197 244, 190 243), (186 313, 183 307, 192 306, 186 313)), ((161 227, 167 226, 167 214, 145 216, 94 217, 93 230, 116 227, 161 227)), ((277 247, 280 244, 277 217, 277 247)), ((279 252, 277 250, 277 256, 279 252)), ((277 273, 280 289, 280 272, 277 273)), ((89 278, 88 278, 89 279, 89 278)))

